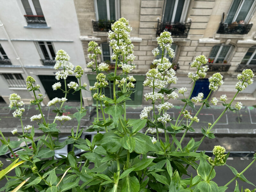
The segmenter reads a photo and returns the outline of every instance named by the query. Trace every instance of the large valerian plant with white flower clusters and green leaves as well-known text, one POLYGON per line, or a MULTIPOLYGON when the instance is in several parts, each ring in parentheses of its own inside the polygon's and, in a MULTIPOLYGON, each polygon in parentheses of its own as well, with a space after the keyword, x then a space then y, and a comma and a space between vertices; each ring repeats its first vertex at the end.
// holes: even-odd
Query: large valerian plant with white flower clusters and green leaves
MULTIPOLYGON (((207 156, 205 151, 197 152, 205 137, 210 139, 215 137, 212 128, 228 109, 232 111, 242 108, 241 102, 237 102, 234 106, 233 101, 239 92, 252 84, 254 76, 252 70, 245 69, 237 76, 238 82, 235 87, 237 92, 229 102, 226 95, 220 96, 224 110, 213 124, 208 123, 202 128, 202 139, 195 141, 191 138, 187 144, 184 144, 182 141, 186 133, 194 132, 193 124, 199 122, 197 115, 202 108, 210 107, 211 103, 217 105, 219 102, 217 98, 212 98, 211 101, 208 99, 211 93, 223 84, 223 76, 215 73, 209 78, 210 93, 207 96, 198 93, 196 97, 191 98, 196 81, 204 78, 208 70, 207 58, 204 55, 196 56, 190 64, 195 70, 188 73, 193 86, 188 97, 185 97, 185 92, 188 91, 186 87, 180 89, 172 87, 172 84, 177 83, 178 78, 169 59, 165 57, 165 53, 171 58, 174 57, 174 51, 171 48, 173 40, 169 32, 163 32, 157 37, 161 50, 155 48, 152 51, 154 56, 160 55, 160 59, 153 61, 156 68, 148 70, 143 83, 152 90, 145 94, 145 100, 150 101, 152 106, 147 106, 141 111, 140 119, 129 119, 126 116, 126 101, 131 100, 130 88, 135 87, 136 81, 132 75, 129 75, 135 68, 134 46, 129 38, 131 30, 128 21, 121 18, 112 25, 108 33, 109 44, 113 50, 111 59, 115 61, 113 72, 109 72, 108 64, 98 64, 97 57, 101 54, 98 44, 93 41, 88 44, 88 58, 92 61, 87 64, 87 67, 96 72, 96 82, 89 87, 89 90, 92 91, 92 97, 96 100, 97 114, 88 129, 80 128, 80 121, 86 115, 81 94, 87 86, 81 82, 84 70, 81 66, 76 66, 74 69, 73 64, 68 62, 70 59, 68 54, 63 50, 56 53, 54 69, 60 70, 56 73, 56 79, 64 79, 64 85, 57 82, 52 85, 52 89, 60 89, 64 97, 54 98, 47 104, 48 107, 55 108, 53 112, 56 113, 56 117, 52 123, 46 122, 44 118, 40 105, 44 96, 40 93, 40 86, 35 84, 33 77, 28 76, 26 82, 28 91, 32 91, 35 98, 30 103, 37 105, 40 111, 40 114, 30 118, 31 121, 36 121, 37 127, 23 126, 21 117, 25 111, 22 108, 24 103, 19 95, 15 93, 10 95, 10 108, 15 110, 13 116, 20 118, 22 134, 14 129, 12 134, 18 135, 20 141, 10 141, 6 140, 0 131, 2 136, 0 154, 5 154, 9 149, 14 157, 10 159, 12 164, 0 172, 0 179, 6 183, 1 191, 224 192, 228 185, 237 178, 252 184, 243 173, 254 163, 256 155, 240 173, 227 165, 235 177, 226 185, 218 186, 212 181, 216 174, 214 167, 225 165, 229 153, 226 153, 225 148, 221 146, 214 147, 214 158, 207 156), (122 69, 119 74, 117 67, 122 69), (68 75, 74 73, 79 80, 78 83, 67 84, 68 75), (112 98, 108 98, 104 93, 104 88, 110 86, 109 81, 113 81, 112 98), (71 136, 60 142, 61 126, 71 120, 70 116, 63 115, 65 110, 62 109, 64 102, 67 101, 67 94, 70 92, 80 93, 81 105, 73 115, 77 120, 77 125, 71 129, 71 136), (174 119, 167 113, 167 110, 173 108, 171 100, 179 97, 185 104, 179 116, 174 119), (201 103, 201 107, 192 116, 188 108, 194 108, 195 103, 201 103), (153 111, 152 116, 151 111, 153 111), (60 126, 57 126, 56 121, 60 126), (41 131, 41 136, 35 137, 35 129, 41 131), (83 132, 92 131, 97 132, 92 142, 81 138, 83 132), (178 140, 176 134, 182 131, 183 135, 178 140), (161 138, 159 133, 164 133, 164 138, 161 138), (17 152, 17 158, 13 149, 19 147, 22 141, 25 141, 26 146, 17 152), (55 159, 55 150, 64 148, 68 144, 73 144, 72 151, 67 156, 61 155, 62 158, 55 159), (76 157, 75 147, 86 153, 76 157), (193 176, 188 168, 196 170, 197 175, 193 176), (12 169, 15 169, 15 176, 7 174, 12 169)), ((0 167, 2 166, 0 162, 0 167)), ((239 191, 237 181, 236 191, 239 191)), ((244 191, 251 190, 245 189, 244 191)))

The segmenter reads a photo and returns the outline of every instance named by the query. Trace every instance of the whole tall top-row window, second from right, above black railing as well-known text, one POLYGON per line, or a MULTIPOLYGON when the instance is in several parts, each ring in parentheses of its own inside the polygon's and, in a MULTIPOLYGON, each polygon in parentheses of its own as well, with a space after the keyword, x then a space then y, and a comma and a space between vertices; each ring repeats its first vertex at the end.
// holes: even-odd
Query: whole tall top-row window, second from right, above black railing
POLYGON ((166 0, 164 2, 163 23, 185 22, 189 0, 166 0))

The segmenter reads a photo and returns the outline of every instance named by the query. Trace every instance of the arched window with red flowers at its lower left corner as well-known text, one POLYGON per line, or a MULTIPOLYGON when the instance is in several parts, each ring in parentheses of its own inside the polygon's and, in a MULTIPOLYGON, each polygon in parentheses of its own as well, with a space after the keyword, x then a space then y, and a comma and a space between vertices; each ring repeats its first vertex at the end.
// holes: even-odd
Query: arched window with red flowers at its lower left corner
POLYGON ((212 51, 209 55, 209 63, 223 63, 227 62, 228 57, 234 46, 231 44, 218 44, 212 47, 212 51))

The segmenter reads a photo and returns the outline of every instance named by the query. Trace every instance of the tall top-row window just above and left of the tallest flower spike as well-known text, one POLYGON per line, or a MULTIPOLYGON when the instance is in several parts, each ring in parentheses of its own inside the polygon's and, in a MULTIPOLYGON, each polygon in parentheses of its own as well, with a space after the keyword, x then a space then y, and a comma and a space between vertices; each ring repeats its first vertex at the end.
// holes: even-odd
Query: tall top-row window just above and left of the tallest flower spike
POLYGON ((114 21, 119 17, 119 0, 94 0, 96 20, 114 21))

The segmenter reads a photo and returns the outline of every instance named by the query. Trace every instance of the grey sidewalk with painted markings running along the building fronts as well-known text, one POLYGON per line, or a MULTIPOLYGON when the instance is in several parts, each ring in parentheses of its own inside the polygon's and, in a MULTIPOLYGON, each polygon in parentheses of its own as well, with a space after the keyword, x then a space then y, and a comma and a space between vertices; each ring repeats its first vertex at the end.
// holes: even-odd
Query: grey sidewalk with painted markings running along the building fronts
MULTIPOLYGON (((68 115, 72 117, 71 121, 67 121, 62 125, 62 128, 60 129, 61 133, 69 133, 72 127, 77 126, 76 119, 72 116, 75 112, 77 112, 76 108, 79 108, 80 103, 76 102, 67 102, 66 105, 63 106, 62 109, 66 110, 66 112, 63 115, 68 115)), ((168 110, 168 113, 173 117, 174 119, 178 117, 180 110, 183 106, 175 106, 174 108, 168 110)), ((200 106, 199 106, 200 107, 200 106)), ((199 107, 196 106, 196 109, 199 107)), ((36 122, 31 122, 30 117, 33 115, 39 114, 39 109, 37 106, 33 105, 26 105, 25 112, 22 116, 23 125, 34 125, 35 127, 38 127, 36 122)), ((53 107, 42 107, 43 113, 45 115, 45 119, 47 122, 52 123, 54 120, 54 116, 56 113, 53 113, 52 110, 53 107)), ((93 118, 96 117, 96 111, 95 107, 87 107, 87 115, 81 120, 81 126, 80 127, 88 127, 91 125, 91 122, 93 121, 93 118)), ((128 107, 127 108, 127 118, 140 118, 140 112, 143 109, 143 107, 128 107)), ((192 116, 195 115, 196 111, 191 108, 186 108, 191 113, 192 116)), ((201 127, 207 126, 208 122, 213 123, 221 114, 221 112, 224 110, 224 107, 222 106, 213 106, 212 108, 203 108, 198 115, 198 118, 200 119, 199 123, 194 123, 194 129, 195 133, 201 133, 201 127)), ((21 125, 20 125, 20 119, 14 118, 12 116, 12 112, 14 110, 11 110, 8 105, 2 104, 0 105, 0 118, 2 119, 0 121, 0 129, 2 132, 10 133, 14 128, 18 129, 18 132, 21 132, 21 125)), ((153 112, 152 112, 153 113, 153 112)), ((102 117, 101 113, 99 113, 102 117)), ((106 116, 107 117, 107 116, 106 116)), ((57 122, 56 122, 57 123, 57 122)), ((186 123, 184 121, 184 123, 186 123)), ((40 130, 35 130, 36 133, 41 132, 40 130)), ((244 106, 240 111, 227 111, 219 120, 219 122, 214 126, 212 129, 215 133, 256 133, 256 108, 251 106, 244 106)), ((11 136, 11 135, 10 135, 11 136)))

